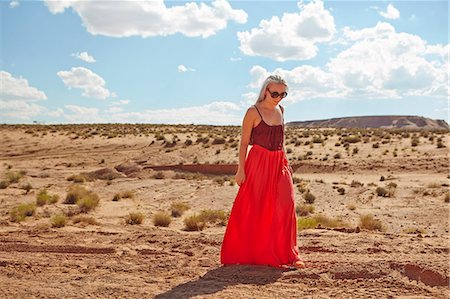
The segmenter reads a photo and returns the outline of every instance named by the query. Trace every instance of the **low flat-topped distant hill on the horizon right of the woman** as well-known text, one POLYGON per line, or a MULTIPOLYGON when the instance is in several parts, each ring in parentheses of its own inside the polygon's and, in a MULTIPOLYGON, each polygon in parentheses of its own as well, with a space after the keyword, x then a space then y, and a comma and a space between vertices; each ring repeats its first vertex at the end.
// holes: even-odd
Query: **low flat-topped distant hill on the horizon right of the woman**
POLYGON ((286 125, 307 128, 401 128, 450 130, 450 127, 445 120, 409 115, 339 117, 322 120, 293 121, 288 122, 286 125))

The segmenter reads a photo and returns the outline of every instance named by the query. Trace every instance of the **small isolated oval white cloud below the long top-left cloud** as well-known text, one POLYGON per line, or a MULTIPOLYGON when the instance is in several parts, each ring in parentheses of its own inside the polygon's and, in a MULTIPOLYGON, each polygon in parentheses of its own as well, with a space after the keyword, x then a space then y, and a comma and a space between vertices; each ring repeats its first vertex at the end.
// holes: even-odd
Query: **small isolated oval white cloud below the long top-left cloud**
POLYGON ((105 80, 87 68, 73 67, 70 71, 60 71, 57 74, 69 89, 82 89, 85 97, 106 99, 111 96, 110 91, 105 88, 105 80))

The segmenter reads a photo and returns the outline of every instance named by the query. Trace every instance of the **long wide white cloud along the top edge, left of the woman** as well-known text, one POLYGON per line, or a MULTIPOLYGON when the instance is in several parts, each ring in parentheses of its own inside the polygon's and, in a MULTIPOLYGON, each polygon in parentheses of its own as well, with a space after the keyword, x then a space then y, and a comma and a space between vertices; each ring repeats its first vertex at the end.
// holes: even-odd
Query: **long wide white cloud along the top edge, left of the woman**
POLYGON ((228 21, 247 22, 245 11, 233 9, 225 0, 171 7, 163 0, 116 1, 114 5, 97 0, 45 0, 45 4, 54 14, 72 8, 89 33, 111 37, 181 33, 207 38, 226 28, 228 21))

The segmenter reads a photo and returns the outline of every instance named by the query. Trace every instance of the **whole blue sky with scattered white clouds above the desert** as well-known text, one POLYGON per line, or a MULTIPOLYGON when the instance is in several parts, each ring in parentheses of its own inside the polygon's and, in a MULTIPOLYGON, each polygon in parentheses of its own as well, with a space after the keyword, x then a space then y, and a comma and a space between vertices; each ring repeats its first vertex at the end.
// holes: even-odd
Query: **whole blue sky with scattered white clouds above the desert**
POLYGON ((1 1, 0 123, 449 120, 447 1, 1 1))

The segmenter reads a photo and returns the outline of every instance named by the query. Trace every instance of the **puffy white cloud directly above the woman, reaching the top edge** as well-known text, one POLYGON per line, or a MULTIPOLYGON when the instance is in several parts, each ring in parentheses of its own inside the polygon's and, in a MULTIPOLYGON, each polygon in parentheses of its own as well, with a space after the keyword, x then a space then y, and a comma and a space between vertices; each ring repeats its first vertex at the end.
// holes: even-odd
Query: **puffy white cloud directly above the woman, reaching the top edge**
POLYGON ((262 20, 259 27, 238 32, 240 50, 249 56, 277 61, 306 60, 317 55, 317 43, 328 42, 336 32, 334 18, 322 1, 298 3, 299 13, 262 20))

